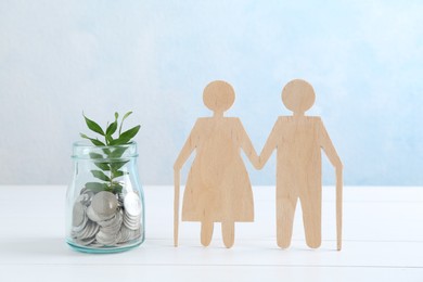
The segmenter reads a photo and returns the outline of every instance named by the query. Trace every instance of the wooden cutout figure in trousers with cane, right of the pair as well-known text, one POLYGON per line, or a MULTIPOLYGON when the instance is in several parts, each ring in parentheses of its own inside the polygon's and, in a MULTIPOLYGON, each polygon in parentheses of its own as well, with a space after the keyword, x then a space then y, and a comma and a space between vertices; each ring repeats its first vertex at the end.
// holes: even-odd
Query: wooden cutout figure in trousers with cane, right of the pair
POLYGON ((341 196, 343 165, 320 117, 305 116, 315 103, 315 91, 307 81, 295 79, 282 90, 283 104, 293 116, 280 116, 260 154, 260 167, 277 150, 277 239, 291 244, 297 200, 302 202, 306 242, 321 245, 321 149, 336 169, 337 248, 341 249, 341 196))

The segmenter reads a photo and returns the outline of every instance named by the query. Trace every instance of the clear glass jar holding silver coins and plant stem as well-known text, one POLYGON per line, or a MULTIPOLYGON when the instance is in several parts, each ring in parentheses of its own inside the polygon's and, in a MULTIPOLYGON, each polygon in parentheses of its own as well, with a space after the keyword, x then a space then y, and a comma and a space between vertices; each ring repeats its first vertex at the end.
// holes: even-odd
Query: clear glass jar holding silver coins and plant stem
POLYGON ((73 145, 74 178, 66 193, 66 241, 85 253, 117 253, 144 241, 144 196, 137 143, 73 145))

